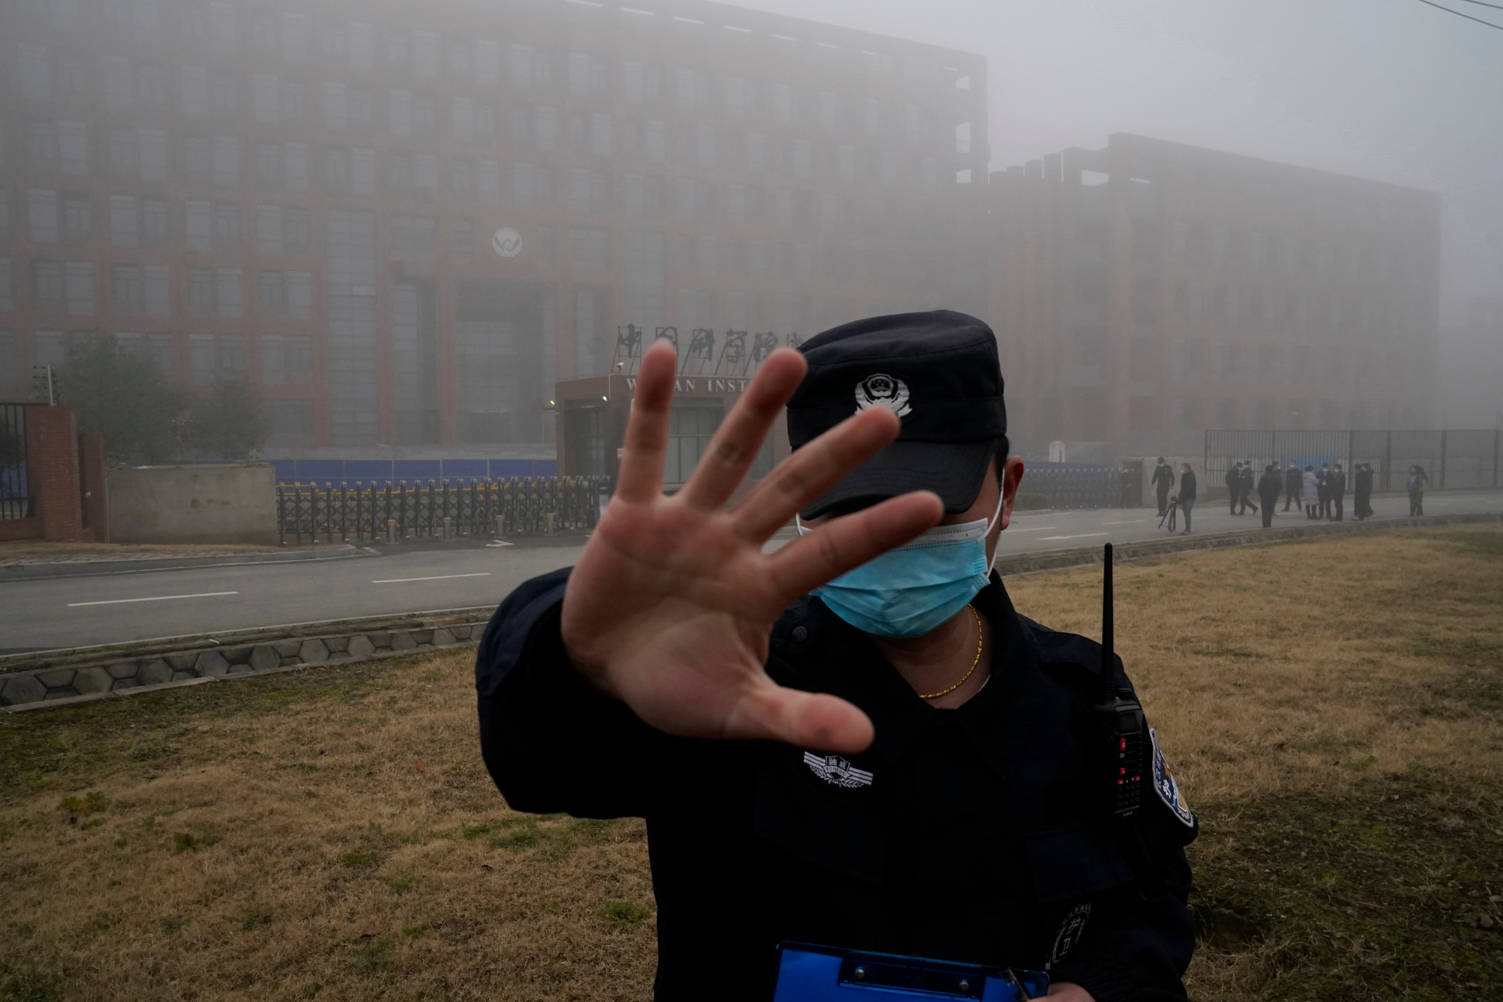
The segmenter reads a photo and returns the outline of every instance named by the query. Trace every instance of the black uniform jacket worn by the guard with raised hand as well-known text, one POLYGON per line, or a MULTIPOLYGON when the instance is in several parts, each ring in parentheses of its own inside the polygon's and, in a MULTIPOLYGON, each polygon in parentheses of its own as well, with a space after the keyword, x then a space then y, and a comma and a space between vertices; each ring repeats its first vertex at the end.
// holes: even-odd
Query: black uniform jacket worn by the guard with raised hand
POLYGON ((992 676, 936 711, 870 637, 803 598, 777 620, 767 670, 870 715, 876 741, 845 759, 643 724, 564 653, 567 580, 522 584, 485 629, 481 750, 519 811, 646 819, 660 1002, 765 999, 780 940, 1052 963, 1099 1002, 1186 997, 1196 828, 1150 777, 1136 831, 1103 819, 1096 643, 1024 619, 993 577, 975 599, 992 676), (1087 904, 1084 928, 1061 934, 1087 904))

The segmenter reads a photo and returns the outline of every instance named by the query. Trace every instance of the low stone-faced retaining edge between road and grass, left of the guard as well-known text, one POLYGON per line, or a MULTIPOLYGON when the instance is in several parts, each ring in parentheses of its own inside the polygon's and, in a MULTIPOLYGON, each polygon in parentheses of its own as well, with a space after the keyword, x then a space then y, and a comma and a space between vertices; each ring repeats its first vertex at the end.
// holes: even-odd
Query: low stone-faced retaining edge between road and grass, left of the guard
POLYGON ((170 685, 268 675, 286 669, 338 661, 370 661, 380 656, 434 650, 479 640, 485 622, 437 628, 377 629, 334 637, 293 637, 203 650, 177 650, 161 656, 123 658, 80 669, 36 669, 0 675, 0 706, 86 702, 132 691, 155 691, 170 685))

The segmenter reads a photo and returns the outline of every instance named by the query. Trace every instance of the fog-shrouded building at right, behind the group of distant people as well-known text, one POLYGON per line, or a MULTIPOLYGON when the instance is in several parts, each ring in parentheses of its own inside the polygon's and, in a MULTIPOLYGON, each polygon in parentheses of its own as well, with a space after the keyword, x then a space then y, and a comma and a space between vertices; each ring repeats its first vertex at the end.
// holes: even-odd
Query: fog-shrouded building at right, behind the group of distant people
POLYGON ((1440 195, 1118 134, 990 197, 1021 440, 1432 427, 1440 195))

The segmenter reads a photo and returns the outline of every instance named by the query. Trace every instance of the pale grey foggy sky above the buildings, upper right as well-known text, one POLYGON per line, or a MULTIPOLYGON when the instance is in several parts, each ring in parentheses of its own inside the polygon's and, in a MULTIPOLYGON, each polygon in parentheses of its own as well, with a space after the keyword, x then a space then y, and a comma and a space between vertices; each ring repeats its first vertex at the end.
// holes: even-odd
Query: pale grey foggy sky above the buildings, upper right
POLYGON ((1503 296, 1503 30, 1419 0, 741 6, 986 56, 993 170, 1138 132, 1438 191, 1441 326, 1503 296))

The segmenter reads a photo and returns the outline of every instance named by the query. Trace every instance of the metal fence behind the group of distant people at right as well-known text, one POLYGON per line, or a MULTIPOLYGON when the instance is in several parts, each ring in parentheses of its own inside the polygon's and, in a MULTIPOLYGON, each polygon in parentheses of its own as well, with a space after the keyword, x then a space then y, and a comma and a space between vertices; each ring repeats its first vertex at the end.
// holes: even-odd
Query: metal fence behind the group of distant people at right
POLYGON ((1404 490, 1411 466, 1429 476, 1432 488, 1476 490, 1503 487, 1498 475, 1495 428, 1458 431, 1207 431, 1204 479, 1219 487, 1226 469, 1238 460, 1254 469, 1267 463, 1279 470, 1294 463, 1300 469, 1321 463, 1350 473, 1357 463, 1371 463, 1374 490, 1404 490))

